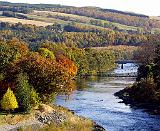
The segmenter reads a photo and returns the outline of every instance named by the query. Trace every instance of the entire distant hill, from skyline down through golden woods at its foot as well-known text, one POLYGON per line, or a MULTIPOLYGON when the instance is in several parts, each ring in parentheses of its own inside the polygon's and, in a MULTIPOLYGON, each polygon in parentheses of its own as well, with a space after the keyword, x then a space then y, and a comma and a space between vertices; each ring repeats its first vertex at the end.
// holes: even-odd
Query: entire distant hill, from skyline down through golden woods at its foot
POLYGON ((146 15, 99 7, 0 2, 0 39, 21 39, 36 49, 44 42, 69 47, 139 46, 160 33, 146 15))

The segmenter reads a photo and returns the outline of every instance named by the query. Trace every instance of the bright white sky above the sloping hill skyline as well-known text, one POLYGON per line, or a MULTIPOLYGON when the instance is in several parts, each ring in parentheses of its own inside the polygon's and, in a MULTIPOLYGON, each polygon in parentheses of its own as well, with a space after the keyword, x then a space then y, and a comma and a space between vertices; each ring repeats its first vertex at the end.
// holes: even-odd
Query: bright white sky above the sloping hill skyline
MULTIPOLYGON (((1 1, 1 0, 0 0, 1 1)), ((5 0, 2 0, 5 1, 5 0)), ((96 6, 129 11, 149 16, 160 16, 160 0, 6 0, 13 3, 46 3, 70 6, 96 6)))

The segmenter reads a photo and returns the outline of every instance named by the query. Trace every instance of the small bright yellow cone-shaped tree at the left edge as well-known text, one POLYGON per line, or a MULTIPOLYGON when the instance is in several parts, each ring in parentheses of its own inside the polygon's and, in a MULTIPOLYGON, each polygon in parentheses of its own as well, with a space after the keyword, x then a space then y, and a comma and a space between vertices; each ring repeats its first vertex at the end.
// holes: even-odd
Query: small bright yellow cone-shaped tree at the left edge
POLYGON ((4 94, 1 100, 1 108, 7 111, 18 108, 17 99, 10 88, 8 88, 7 92, 4 94))

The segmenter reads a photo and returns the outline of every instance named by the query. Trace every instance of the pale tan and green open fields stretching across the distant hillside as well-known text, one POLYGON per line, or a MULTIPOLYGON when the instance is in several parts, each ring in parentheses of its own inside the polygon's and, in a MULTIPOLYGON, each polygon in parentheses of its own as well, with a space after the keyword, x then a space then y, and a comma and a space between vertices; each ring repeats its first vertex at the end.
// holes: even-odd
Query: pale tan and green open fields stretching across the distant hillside
MULTIPOLYGON (((22 14, 22 13, 20 13, 22 14)), ((120 30, 133 30, 136 31, 137 29, 140 29, 139 27, 134 27, 134 26, 127 26, 119 23, 114 23, 114 22, 109 22, 106 20, 100 20, 100 19, 94 19, 91 17, 86 17, 86 16, 79 16, 79 15, 73 15, 73 14, 66 14, 66 13, 60 13, 60 12, 51 12, 51 11, 34 11, 31 14, 22 14, 27 16, 29 19, 32 20, 26 20, 26 19, 17 19, 17 18, 12 18, 12 17, 0 17, 1 22, 9 22, 9 23, 18 23, 21 22, 22 24, 33 24, 36 26, 47 26, 51 25, 53 23, 60 23, 60 24, 67 24, 69 22, 76 22, 78 24, 84 24, 84 25, 89 25, 94 28, 102 28, 105 29, 104 27, 101 26, 96 26, 96 25, 91 25, 90 21, 91 20, 98 20, 101 23, 106 23, 108 25, 117 27, 120 30), (51 17, 48 17, 50 15, 51 17), (69 18, 69 21, 67 20, 62 20, 59 18, 56 18, 56 16, 62 16, 63 18, 69 18)))

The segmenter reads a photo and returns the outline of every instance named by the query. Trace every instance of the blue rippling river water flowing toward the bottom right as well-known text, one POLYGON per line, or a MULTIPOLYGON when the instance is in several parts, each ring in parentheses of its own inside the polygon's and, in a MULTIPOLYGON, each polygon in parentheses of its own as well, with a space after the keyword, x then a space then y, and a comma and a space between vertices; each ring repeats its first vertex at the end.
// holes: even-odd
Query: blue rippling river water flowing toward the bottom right
MULTIPOLYGON (((136 72, 134 64, 120 66, 114 73, 136 72)), ((57 105, 62 105, 76 114, 91 118, 108 131, 160 131, 160 116, 149 115, 120 103, 113 94, 134 82, 134 78, 89 78, 79 80, 78 87, 68 99, 58 96, 57 105)))

